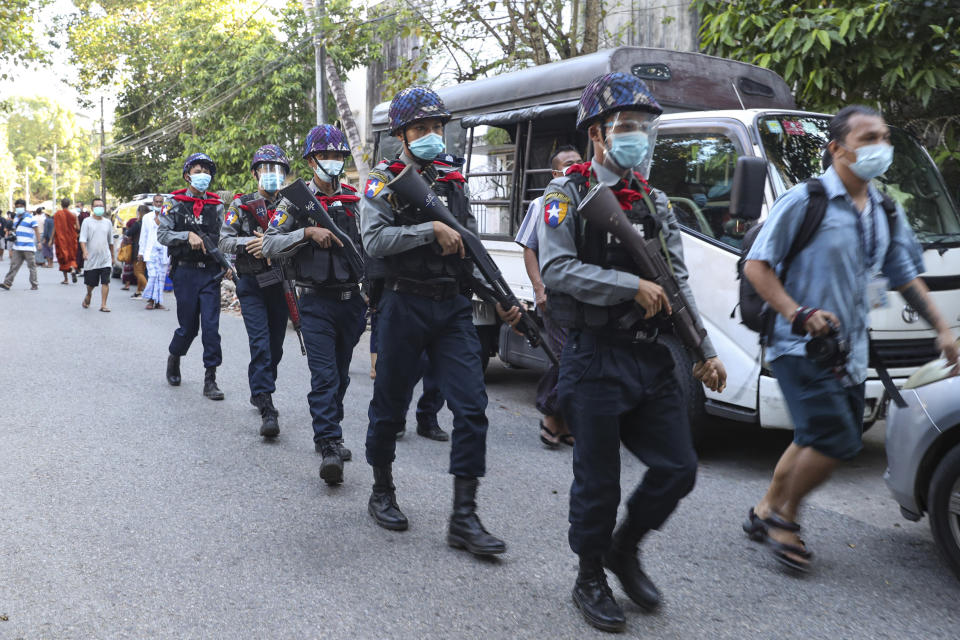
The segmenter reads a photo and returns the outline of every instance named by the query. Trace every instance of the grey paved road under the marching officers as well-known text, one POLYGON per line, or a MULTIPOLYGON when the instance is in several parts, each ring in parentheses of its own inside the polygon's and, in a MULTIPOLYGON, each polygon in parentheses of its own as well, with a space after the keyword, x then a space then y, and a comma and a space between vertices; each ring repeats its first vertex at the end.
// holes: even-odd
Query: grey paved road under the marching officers
MULTIPOLYGON (((239 317, 221 320, 227 399, 215 403, 200 394, 199 348, 183 386, 164 382, 172 311, 146 312, 116 286, 113 313, 83 310, 80 286, 57 278, 41 270, 31 292, 21 273, 0 291, 13 392, 0 412, 0 638, 605 637, 570 602, 570 450, 537 441, 534 374, 488 374, 480 508, 509 550, 481 562, 444 543, 444 444, 411 434, 398 446, 409 531, 367 515, 366 338, 344 423, 355 461, 331 489, 317 476, 293 335, 276 396, 282 433, 265 444, 239 317)), ((816 571, 798 579, 740 531, 786 434, 718 425, 696 489, 644 549, 666 604, 643 615, 627 603, 629 636, 956 638, 960 583, 926 522, 900 518, 875 431, 806 512, 816 571)), ((625 457, 625 483, 641 474, 625 457)))

